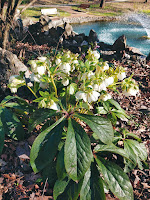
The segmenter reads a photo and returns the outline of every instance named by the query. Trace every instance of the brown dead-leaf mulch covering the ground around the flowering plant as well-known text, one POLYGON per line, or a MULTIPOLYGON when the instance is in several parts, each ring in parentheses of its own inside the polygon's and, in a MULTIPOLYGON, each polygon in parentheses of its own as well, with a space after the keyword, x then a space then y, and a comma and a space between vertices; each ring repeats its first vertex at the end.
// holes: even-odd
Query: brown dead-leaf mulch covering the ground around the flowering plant
MULTIPOLYGON (((17 44, 14 52, 20 57, 24 56, 24 62, 32 53, 39 51, 46 53, 47 46, 30 46, 17 44), (20 50, 23 51, 20 53, 20 50), (37 50, 38 49, 38 50, 37 50)), ((138 62, 127 63, 115 61, 116 65, 127 68, 127 76, 134 74, 133 78, 140 86, 140 94, 137 97, 125 97, 115 95, 114 98, 122 108, 131 116, 130 124, 122 122, 121 127, 126 127, 138 135, 147 147, 148 164, 150 165, 150 63, 141 65, 138 62)), ((30 148, 37 136, 37 131, 22 141, 17 142, 6 138, 3 153, 0 157, 0 199, 3 200, 48 200, 53 199, 53 191, 48 183, 40 181, 40 174, 34 174, 29 164, 30 148)), ((134 188, 135 200, 150 199, 150 171, 135 169, 129 174, 134 188)), ((112 194, 107 199, 114 198, 112 194)))

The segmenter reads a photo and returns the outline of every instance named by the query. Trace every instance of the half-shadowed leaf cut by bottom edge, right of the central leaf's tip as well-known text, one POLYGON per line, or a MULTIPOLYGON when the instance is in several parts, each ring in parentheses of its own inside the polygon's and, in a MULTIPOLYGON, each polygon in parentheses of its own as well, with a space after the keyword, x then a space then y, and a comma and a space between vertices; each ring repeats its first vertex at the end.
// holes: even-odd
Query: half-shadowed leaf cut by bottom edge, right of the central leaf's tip
POLYGON ((80 200, 105 200, 105 193, 102 179, 99 172, 92 163, 91 169, 85 173, 82 188, 80 191, 80 200))

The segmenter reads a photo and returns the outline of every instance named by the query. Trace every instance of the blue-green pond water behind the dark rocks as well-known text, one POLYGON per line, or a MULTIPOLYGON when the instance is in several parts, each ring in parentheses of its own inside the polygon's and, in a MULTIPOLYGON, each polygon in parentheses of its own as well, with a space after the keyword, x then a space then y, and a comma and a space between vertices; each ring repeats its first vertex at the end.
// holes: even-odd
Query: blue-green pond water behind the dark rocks
POLYGON ((124 34, 127 38, 127 45, 138 48, 145 55, 150 52, 150 39, 141 38, 148 36, 147 30, 139 23, 94 22, 72 26, 75 32, 86 35, 89 35, 91 29, 95 30, 99 41, 107 44, 113 44, 119 36, 124 34))

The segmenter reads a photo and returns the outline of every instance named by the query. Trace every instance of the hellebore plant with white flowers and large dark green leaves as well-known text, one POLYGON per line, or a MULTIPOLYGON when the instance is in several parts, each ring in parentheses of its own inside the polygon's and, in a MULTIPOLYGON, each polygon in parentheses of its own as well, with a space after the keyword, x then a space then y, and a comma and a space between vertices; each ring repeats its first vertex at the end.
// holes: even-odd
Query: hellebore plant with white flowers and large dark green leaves
MULTIPOLYGON (((121 200, 132 200, 126 173, 137 165, 142 169, 147 159, 136 135, 115 132, 112 126, 129 116, 110 91, 119 87, 134 96, 138 86, 131 77, 125 79, 124 68, 109 67, 99 58, 98 51, 91 49, 84 59, 62 51, 51 59, 29 61, 30 82, 22 75, 9 81, 12 92, 26 85, 35 96, 38 108, 30 114, 28 129, 38 124, 43 128, 32 145, 30 163, 53 187, 55 200, 103 200, 108 189, 121 200)), ((1 103, 3 109, 10 105, 1 103)))

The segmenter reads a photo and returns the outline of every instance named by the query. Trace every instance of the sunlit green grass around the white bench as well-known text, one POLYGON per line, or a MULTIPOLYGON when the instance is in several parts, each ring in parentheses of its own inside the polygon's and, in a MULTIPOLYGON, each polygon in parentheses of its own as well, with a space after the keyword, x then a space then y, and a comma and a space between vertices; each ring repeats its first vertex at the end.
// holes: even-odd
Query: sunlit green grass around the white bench
MULTIPOLYGON (((49 8, 45 7, 44 9, 49 8)), ((33 21, 38 21, 38 18, 41 16, 41 9, 42 7, 36 7, 36 8, 28 8, 24 12, 21 13, 22 18, 31 18, 33 21)), ((58 9, 57 15, 51 15, 51 16, 59 16, 59 17, 67 17, 70 16, 70 13, 62 11, 58 9)))

